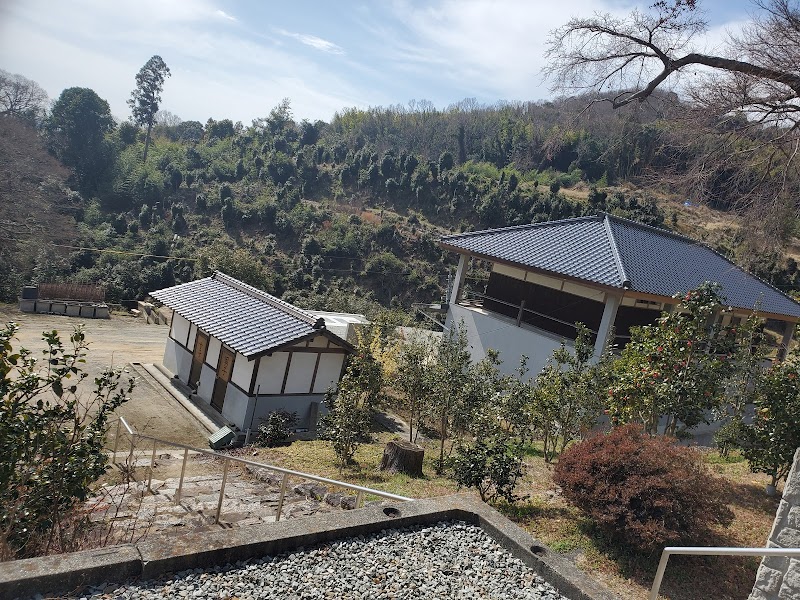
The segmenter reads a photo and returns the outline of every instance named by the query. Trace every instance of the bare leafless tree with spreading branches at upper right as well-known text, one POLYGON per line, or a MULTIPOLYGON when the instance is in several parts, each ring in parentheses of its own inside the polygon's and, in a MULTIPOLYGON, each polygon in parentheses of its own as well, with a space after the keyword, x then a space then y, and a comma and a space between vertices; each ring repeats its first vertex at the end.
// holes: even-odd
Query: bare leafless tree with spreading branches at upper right
POLYGON ((720 55, 696 50, 707 29, 698 5, 574 18, 551 32, 544 73, 553 89, 591 91, 615 109, 679 85, 687 129, 671 141, 683 174, 708 199, 780 221, 797 210, 800 181, 800 2, 755 0, 720 55))

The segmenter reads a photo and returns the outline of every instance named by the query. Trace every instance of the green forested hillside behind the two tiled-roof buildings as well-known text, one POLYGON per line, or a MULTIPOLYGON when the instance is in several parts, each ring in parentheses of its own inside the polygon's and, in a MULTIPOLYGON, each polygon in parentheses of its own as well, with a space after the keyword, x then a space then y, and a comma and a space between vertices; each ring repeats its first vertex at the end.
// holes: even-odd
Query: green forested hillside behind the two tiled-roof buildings
POLYGON ((703 188, 681 179, 704 140, 673 127, 677 98, 586 107, 580 97, 412 102, 324 123, 296 122, 285 100, 250 126, 162 112, 145 159, 143 127, 115 124, 93 91, 70 88, 45 118, 0 117, 2 293, 12 301, 29 281, 99 282, 122 302, 222 269, 303 306, 408 308, 446 288, 454 259, 440 234, 600 210, 699 232, 796 286, 782 248, 793 218, 777 237, 742 233, 735 198, 715 195, 713 178, 703 188), (687 220, 687 199, 729 211, 725 227, 687 220))

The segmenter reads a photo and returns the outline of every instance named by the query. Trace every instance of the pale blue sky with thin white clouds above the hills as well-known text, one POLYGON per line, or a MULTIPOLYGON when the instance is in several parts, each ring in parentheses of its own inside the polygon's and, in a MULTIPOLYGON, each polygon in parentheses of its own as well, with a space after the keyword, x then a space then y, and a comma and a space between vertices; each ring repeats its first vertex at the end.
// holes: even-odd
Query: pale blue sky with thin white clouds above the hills
MULTIPOLYGON (((344 108, 439 109, 474 98, 542 100, 548 32, 653 0, 0 0, 0 69, 55 99, 89 87, 119 120, 153 55, 171 70, 161 109, 249 125, 283 98, 297 120, 344 108)), ((747 0, 705 0, 704 49, 749 19, 747 0)))

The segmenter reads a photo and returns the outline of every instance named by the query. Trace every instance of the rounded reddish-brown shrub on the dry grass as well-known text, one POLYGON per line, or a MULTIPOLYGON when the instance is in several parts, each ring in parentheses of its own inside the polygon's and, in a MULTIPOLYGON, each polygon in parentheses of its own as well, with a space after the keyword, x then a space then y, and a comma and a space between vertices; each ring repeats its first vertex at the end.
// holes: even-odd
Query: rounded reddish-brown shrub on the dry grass
POLYGON ((699 453, 633 424, 568 448, 553 479, 611 540, 639 550, 699 539, 733 517, 699 453))

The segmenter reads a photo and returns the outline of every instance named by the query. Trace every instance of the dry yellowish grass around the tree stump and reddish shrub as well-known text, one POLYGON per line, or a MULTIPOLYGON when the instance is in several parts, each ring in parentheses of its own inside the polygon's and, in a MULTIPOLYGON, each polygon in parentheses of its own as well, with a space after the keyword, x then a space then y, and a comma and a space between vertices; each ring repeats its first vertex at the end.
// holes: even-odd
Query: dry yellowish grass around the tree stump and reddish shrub
MULTIPOLYGON (((291 446, 259 449, 256 460, 315 473, 333 479, 374 487, 414 498, 441 496, 457 491, 450 480, 435 475, 438 447, 426 444, 421 479, 387 475, 378 471, 383 447, 394 434, 375 434, 375 441, 356 453, 357 465, 342 473, 330 445, 322 441, 295 442, 291 446)), ((728 482, 726 500, 735 518, 718 527, 709 546, 764 546, 777 510, 778 500, 764 494, 767 478, 749 472, 740 457, 722 459, 706 452, 709 470, 728 482)), ((527 471, 518 493, 527 496, 515 505, 496 508, 553 551, 573 560, 580 569, 625 599, 647 596, 659 556, 645 556, 615 547, 593 529, 580 511, 569 506, 552 481, 552 466, 533 448, 526 458, 527 471)), ((673 557, 662 586, 662 597, 670 600, 738 599, 749 594, 758 568, 757 558, 673 557)))

